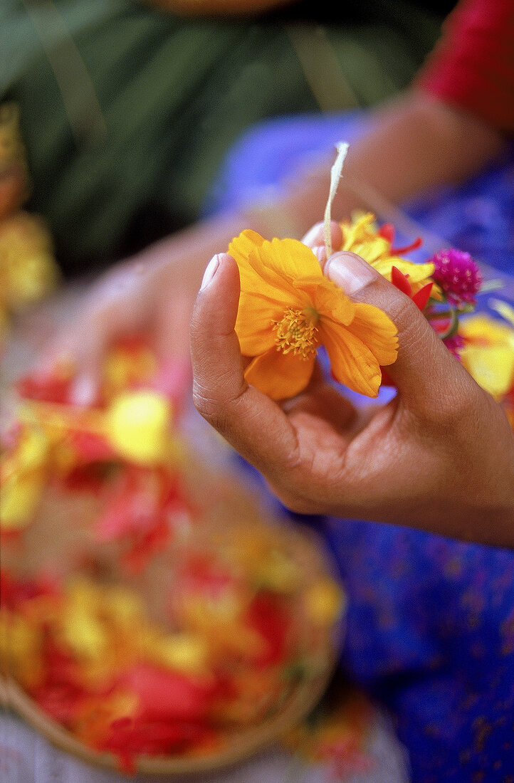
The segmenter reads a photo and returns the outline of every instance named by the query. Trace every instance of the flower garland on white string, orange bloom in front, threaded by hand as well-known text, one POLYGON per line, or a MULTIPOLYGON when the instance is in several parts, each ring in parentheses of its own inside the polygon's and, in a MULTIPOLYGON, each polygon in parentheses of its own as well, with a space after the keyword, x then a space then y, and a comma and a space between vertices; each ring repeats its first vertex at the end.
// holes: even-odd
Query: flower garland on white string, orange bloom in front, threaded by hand
MULTIPOLYGON (((411 298, 476 381, 512 411, 514 310, 495 300, 501 323, 485 315, 469 320, 478 295, 490 290, 490 283, 484 283, 468 253, 451 247, 423 263, 412 262, 407 254, 422 247, 421 237, 395 247, 394 226, 378 226, 371 212, 342 222, 341 247, 331 247, 331 201, 347 145, 337 149, 324 216, 327 253, 360 255, 411 298)), ((384 312, 353 302, 327 280, 309 247, 289 238, 268 241, 246 230, 233 239, 228 252, 241 278, 236 332, 241 352, 250 360, 245 370, 249 384, 273 399, 298 394, 309 383, 321 346, 328 353, 332 377, 347 388, 376 397, 382 384, 391 383, 386 368, 396 359, 396 327, 384 312)))

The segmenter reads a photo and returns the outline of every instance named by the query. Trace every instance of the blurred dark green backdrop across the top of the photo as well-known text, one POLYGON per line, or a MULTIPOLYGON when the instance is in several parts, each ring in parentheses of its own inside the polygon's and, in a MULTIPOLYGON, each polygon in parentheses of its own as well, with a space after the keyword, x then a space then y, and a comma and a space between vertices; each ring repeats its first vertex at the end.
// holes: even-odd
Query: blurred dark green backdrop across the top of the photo
MULTIPOLYGON (((70 274, 193 222, 224 155, 251 124, 320 111, 288 33, 295 24, 314 34, 310 12, 187 20, 131 0, 1 5, 0 89, 20 104, 29 207, 49 222, 70 274), (64 63, 60 83, 55 58, 64 63), (103 123, 106 132, 96 133, 103 123)), ((324 23, 359 106, 407 85, 439 33, 438 16, 390 5, 356 2, 347 20, 324 23)))

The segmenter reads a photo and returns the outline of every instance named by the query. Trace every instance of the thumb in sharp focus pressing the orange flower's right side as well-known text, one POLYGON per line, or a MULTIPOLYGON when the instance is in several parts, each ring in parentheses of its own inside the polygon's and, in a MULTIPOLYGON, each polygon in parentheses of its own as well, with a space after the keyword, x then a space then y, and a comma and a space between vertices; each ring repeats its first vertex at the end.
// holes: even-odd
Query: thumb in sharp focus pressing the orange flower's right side
POLYGON ((445 402, 455 410, 476 384, 414 302, 370 264, 348 251, 331 255, 324 274, 353 301, 375 305, 398 330, 398 357, 387 373, 412 413, 432 417, 445 402))

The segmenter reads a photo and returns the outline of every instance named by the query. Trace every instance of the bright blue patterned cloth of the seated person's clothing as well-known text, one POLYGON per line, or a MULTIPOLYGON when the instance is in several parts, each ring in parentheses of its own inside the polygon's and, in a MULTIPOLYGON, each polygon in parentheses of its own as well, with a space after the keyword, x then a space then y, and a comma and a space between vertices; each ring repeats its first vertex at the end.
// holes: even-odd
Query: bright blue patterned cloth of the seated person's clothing
MULTIPOLYGON (((351 143, 365 127, 359 112, 257 126, 231 150, 206 211, 252 201, 306 156, 351 143)), ((442 247, 469 251, 486 277, 502 276, 501 297, 514 301, 514 148, 464 186, 405 211, 443 237, 442 247)), ((425 260, 424 252, 410 257, 425 260)), ((367 521, 311 522, 349 597, 342 664, 396 716, 413 783, 513 783, 512 551, 367 521)))

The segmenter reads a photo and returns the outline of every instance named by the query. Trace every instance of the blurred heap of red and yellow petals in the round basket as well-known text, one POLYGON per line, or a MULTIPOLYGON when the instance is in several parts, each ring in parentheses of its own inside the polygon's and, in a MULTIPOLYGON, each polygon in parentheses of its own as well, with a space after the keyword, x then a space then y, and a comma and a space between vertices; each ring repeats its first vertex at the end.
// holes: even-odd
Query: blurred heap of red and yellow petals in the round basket
POLYGON ((241 520, 222 542, 179 547, 159 620, 124 583, 2 568, 4 673, 125 771, 139 756, 215 757, 319 677, 345 608, 342 588, 310 559, 307 572, 284 531, 247 532, 241 520))

